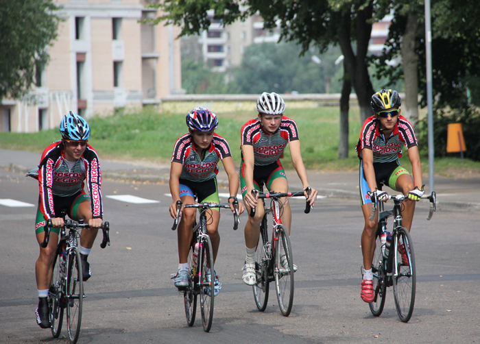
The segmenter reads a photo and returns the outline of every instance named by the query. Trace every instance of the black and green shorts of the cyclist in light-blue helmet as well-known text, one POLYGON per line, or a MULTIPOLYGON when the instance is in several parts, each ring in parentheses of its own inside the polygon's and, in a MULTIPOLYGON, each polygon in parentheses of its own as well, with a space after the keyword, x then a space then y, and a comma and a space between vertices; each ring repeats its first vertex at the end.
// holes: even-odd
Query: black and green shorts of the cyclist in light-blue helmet
MULTIPOLYGON (((78 221, 78 206, 84 201, 90 202, 90 197, 85 193, 85 191, 81 190, 75 195, 71 195, 68 197, 61 197, 53 195, 53 210, 55 211, 56 216, 60 217, 62 212, 65 212, 69 215, 70 219, 73 221, 78 221)), ((36 221, 35 221, 35 234, 39 234, 41 232, 45 232, 45 225, 47 221, 45 217, 43 217, 43 213, 40 211, 40 197, 38 198, 38 209, 36 212, 36 221)), ((51 228, 50 232, 53 233, 60 233, 60 228, 51 228)))

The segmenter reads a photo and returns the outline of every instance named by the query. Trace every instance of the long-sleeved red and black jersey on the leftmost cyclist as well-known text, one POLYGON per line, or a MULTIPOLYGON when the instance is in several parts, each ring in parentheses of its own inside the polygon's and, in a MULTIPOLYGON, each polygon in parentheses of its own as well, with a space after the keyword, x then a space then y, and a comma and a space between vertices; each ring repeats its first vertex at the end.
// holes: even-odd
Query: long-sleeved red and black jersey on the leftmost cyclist
POLYGON ((67 197, 83 190, 84 182, 91 199, 94 219, 103 218, 101 201, 101 169, 97 152, 86 145, 82 157, 69 168, 64 157, 62 141, 52 143, 43 151, 38 165, 40 187, 40 211, 45 219, 56 217, 53 210, 53 195, 67 197))

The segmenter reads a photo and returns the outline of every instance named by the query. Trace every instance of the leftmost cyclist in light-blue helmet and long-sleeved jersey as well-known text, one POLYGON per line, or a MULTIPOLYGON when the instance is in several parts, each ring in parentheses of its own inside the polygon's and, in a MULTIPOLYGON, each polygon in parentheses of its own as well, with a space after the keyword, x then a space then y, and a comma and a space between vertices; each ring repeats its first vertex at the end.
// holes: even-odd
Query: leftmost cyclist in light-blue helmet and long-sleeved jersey
POLYGON ((38 308, 36 320, 40 328, 49 328, 48 288, 51 281, 53 258, 58 244, 60 228, 64 219, 62 210, 74 221, 84 220, 90 228, 80 234, 80 257, 82 277, 86 281, 91 276, 87 261, 93 242, 102 223, 103 206, 101 201, 101 170, 97 152, 88 145, 90 127, 77 114, 69 112, 60 123, 62 140, 49 145, 42 154, 38 169, 27 173, 38 180, 40 196, 36 215, 36 238, 40 256, 36 261, 36 283, 38 288, 38 308), (86 182, 89 196, 84 191, 86 182), (45 225, 51 219, 49 245, 40 246, 45 236, 45 225))

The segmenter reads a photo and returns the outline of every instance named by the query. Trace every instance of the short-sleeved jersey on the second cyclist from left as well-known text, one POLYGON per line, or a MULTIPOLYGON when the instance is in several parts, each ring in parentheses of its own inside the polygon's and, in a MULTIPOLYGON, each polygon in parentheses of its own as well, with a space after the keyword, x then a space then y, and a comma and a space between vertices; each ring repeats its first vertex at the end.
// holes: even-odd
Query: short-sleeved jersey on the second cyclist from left
POLYGON ((171 161, 180 162, 183 165, 181 179, 205 182, 217 175, 219 160, 224 160, 228 156, 232 156, 232 153, 227 140, 213 133, 210 148, 205 153, 204 160, 200 159, 193 144, 193 137, 191 134, 185 134, 175 143, 171 161))

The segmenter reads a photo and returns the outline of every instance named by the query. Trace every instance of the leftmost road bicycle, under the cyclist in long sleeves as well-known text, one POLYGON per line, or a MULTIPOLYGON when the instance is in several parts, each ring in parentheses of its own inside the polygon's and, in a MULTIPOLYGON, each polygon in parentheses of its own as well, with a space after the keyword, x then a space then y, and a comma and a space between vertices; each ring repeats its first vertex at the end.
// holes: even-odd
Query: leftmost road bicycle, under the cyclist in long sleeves
MULTIPOLYGON (((60 229, 60 241, 57 245, 55 258, 53 258, 53 274, 48 293, 51 334, 53 334, 53 338, 60 336, 63 313, 66 310, 67 331, 71 344, 77 343, 80 335, 83 299, 86 297, 83 287, 82 261, 80 260, 80 250, 77 243, 80 238, 79 231, 88 227, 88 223, 83 223, 83 220, 78 222, 64 221, 64 227, 60 229), (68 233, 67 230, 69 230, 68 233)), ((52 223, 49 219, 47 225, 45 225, 44 241, 40 244, 44 248, 49 243, 51 228, 52 223)), ((102 223, 101 230, 104 233, 104 238, 100 247, 103 249, 107 244, 110 246, 110 224, 108 222, 102 223)))

